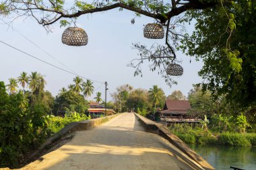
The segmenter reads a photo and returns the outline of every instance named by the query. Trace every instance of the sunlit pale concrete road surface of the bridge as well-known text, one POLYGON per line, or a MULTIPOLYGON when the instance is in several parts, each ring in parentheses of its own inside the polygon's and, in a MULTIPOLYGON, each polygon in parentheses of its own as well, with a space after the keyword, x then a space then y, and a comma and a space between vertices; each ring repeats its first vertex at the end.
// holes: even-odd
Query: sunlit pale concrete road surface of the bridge
POLYGON ((42 161, 22 169, 203 169, 164 138, 145 132, 132 113, 75 133, 71 141, 43 155, 42 161))

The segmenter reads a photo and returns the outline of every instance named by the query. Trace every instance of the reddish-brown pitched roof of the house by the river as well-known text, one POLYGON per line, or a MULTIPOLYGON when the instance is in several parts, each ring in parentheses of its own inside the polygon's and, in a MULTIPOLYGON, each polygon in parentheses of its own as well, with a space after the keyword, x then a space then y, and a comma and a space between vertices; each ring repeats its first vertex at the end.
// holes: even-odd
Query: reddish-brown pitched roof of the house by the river
POLYGON ((167 110, 190 110, 191 105, 188 100, 170 100, 165 101, 165 109, 167 110))

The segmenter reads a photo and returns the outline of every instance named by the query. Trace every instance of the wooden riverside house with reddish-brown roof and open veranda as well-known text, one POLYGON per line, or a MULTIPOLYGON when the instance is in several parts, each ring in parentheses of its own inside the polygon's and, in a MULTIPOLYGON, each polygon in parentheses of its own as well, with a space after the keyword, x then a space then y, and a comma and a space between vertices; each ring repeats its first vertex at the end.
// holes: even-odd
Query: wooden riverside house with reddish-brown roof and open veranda
POLYGON ((199 123, 198 116, 189 114, 191 105, 188 100, 166 100, 164 108, 156 112, 155 119, 158 122, 165 123, 166 126, 177 123, 199 123))

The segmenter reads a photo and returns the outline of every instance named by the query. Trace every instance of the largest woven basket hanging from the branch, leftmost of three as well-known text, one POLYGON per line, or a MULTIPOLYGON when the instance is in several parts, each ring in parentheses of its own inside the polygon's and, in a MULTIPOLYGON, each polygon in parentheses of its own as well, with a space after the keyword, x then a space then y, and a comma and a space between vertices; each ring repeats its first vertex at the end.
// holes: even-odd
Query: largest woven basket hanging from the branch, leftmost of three
POLYGON ((62 43, 69 46, 85 46, 88 36, 82 28, 69 27, 62 34, 62 43))

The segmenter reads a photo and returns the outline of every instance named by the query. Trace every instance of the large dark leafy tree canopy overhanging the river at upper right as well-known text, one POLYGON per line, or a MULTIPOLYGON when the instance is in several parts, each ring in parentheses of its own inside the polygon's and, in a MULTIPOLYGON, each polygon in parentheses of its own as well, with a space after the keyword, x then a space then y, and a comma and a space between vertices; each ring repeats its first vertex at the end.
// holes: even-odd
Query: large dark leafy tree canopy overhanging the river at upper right
POLYGON ((187 13, 195 31, 182 48, 201 59, 203 90, 225 95, 240 108, 256 105, 256 1, 220 1, 214 9, 187 13))

